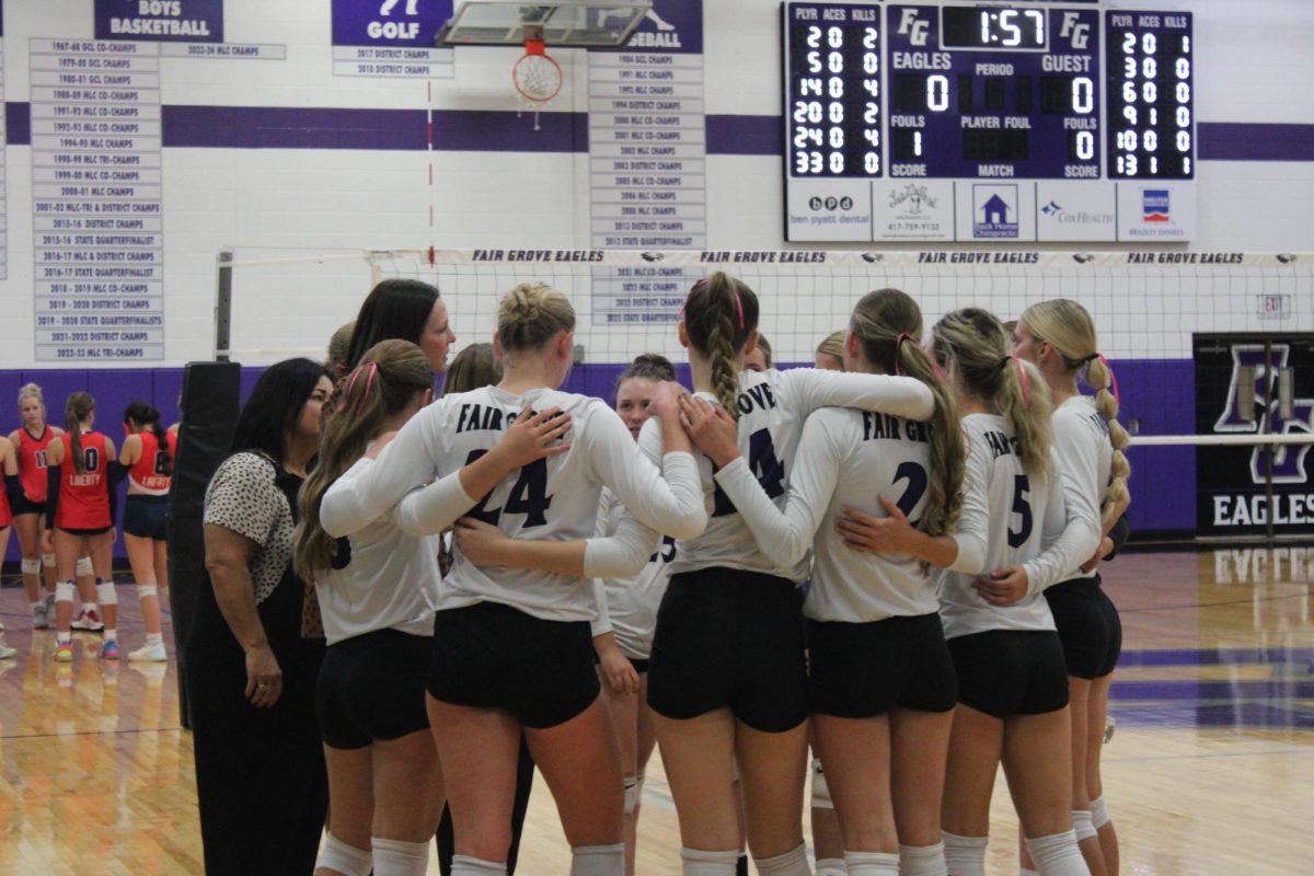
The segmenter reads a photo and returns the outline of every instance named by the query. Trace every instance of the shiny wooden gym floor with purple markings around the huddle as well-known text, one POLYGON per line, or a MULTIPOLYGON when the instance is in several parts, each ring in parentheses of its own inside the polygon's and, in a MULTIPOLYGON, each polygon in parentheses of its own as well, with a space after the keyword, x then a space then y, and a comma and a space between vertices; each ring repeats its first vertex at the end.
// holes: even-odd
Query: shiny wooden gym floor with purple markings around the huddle
MULTIPOLYGON (((1311 571, 1314 548, 1127 554, 1106 569, 1125 628, 1104 776, 1123 873, 1314 871, 1311 571)), ((18 649, 0 661, 0 873, 201 872, 171 630, 170 663, 129 663, 135 602, 121 586, 122 662, 101 662, 100 637, 79 634, 74 662, 57 666, 54 633, 30 629, 22 591, 0 592, 18 649)), ((678 873, 657 758, 648 775, 639 873, 678 873)), ((1017 872, 1016 823, 999 781, 991 873, 1017 872)), ((568 869, 540 781, 520 872, 568 869)))

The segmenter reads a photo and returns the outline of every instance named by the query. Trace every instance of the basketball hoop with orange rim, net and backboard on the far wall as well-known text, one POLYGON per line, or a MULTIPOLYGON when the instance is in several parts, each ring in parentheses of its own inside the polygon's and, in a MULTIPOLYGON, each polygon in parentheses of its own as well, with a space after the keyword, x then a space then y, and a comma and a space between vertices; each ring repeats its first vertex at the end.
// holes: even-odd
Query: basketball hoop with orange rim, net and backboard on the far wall
POLYGON ((652 0, 468 0, 438 32, 439 46, 524 46, 511 81, 524 106, 539 113, 561 93, 565 76, 553 49, 619 49, 652 12, 652 0))

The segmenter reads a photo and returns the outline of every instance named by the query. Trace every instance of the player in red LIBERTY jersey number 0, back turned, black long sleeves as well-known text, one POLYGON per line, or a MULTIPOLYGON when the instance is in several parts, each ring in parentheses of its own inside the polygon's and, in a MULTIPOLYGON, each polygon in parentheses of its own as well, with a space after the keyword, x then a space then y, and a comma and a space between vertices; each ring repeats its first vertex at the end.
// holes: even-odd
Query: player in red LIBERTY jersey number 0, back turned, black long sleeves
POLYGON ((96 602, 104 620, 100 655, 118 659, 118 596, 112 575, 114 544, 114 485, 110 464, 114 443, 95 431, 96 401, 74 393, 64 405, 64 433, 46 448, 46 527, 55 554, 55 662, 72 661, 72 609, 79 557, 89 556, 96 574, 96 602))

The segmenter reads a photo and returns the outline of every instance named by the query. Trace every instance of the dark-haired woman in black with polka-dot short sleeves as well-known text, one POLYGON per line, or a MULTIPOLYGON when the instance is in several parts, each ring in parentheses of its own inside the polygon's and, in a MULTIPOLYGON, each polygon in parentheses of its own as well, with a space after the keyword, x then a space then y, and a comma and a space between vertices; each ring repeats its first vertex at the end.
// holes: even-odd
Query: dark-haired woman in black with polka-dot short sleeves
POLYGON ((271 366, 205 494, 205 569, 185 646, 205 872, 310 873, 328 805, 315 724, 323 629, 292 566, 297 491, 328 372, 271 366))

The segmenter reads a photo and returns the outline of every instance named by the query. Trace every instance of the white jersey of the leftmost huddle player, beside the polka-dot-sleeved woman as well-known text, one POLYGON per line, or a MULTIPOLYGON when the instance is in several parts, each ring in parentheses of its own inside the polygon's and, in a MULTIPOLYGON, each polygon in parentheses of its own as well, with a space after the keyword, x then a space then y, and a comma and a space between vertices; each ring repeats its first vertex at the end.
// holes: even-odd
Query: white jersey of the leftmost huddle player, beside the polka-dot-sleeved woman
MULTIPOLYGON (((348 489, 371 465, 372 460, 357 460, 328 487, 326 500, 334 491, 348 489)), ((406 535, 388 515, 352 535, 350 550, 339 552, 334 563, 346 565, 315 575, 328 644, 377 629, 432 636, 442 583, 438 538, 406 535)))

